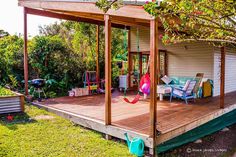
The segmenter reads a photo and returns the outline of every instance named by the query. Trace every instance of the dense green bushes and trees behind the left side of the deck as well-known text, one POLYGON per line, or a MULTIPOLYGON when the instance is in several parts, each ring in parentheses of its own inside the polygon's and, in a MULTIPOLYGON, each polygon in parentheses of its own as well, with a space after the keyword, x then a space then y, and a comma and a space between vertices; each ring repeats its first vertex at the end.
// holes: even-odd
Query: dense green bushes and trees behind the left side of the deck
MULTIPOLYGON (((48 97, 68 94, 73 87, 83 87, 86 70, 96 70, 96 26, 64 21, 40 27, 40 35, 28 42, 29 79, 46 79, 48 97), (56 94, 55 94, 56 93, 56 94)), ((100 76, 104 78, 104 33, 100 27, 100 76)), ((121 29, 112 29, 112 58, 125 58, 127 36, 121 29)), ((0 84, 23 89, 23 40, 17 36, 0 39, 0 84)), ((113 86, 117 86, 119 69, 113 64, 113 86)), ((33 87, 30 87, 32 93, 33 87)))

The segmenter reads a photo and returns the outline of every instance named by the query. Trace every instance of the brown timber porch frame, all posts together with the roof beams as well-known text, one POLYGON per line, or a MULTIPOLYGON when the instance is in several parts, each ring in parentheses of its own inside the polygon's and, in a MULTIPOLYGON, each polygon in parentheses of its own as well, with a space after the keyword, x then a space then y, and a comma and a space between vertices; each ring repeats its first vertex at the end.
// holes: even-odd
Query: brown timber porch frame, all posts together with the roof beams
MULTIPOLYGON (((158 18, 147 14, 140 5, 124 5, 114 11, 109 10, 104 14, 94 2, 82 2, 76 0, 19 0, 19 5, 24 7, 24 79, 25 94, 28 95, 28 51, 27 51, 27 15, 39 15, 45 17, 59 18, 77 22, 86 22, 97 25, 97 48, 99 53, 99 27, 104 25, 105 31, 105 125, 111 125, 111 28, 149 27, 150 29, 150 131, 149 136, 153 140, 153 153, 156 146, 156 108, 157 108, 157 80, 160 69, 157 66, 159 60, 158 51, 158 27, 161 25, 158 18)), ((130 33, 129 33, 130 36, 130 33)), ((130 38, 128 42, 130 52, 130 38)), ((98 57, 97 57, 98 58, 98 57)), ((130 65, 130 58, 129 58, 130 65)), ((97 60, 97 71, 99 64, 97 60)), ((98 73, 99 74, 99 73, 98 73)), ((98 76, 99 77, 99 76, 98 76)), ((225 48, 221 48, 221 102, 224 107, 224 86, 225 84, 225 48)), ((109 136, 106 136, 109 139, 109 136)))

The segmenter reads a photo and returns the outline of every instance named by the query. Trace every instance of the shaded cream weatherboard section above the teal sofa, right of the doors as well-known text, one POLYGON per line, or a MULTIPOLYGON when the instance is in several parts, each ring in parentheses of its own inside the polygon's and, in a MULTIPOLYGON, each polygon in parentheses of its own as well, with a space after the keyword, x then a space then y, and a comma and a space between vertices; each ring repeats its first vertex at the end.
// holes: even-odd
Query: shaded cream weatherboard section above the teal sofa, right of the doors
POLYGON ((168 75, 213 79, 213 47, 204 42, 181 43, 167 46, 168 75))

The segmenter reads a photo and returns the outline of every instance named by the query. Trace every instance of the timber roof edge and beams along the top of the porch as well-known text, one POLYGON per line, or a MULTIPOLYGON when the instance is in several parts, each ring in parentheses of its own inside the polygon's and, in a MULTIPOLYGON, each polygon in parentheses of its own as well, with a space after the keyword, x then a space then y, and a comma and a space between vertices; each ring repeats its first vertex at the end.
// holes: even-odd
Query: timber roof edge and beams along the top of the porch
MULTIPOLYGON (((92 2, 19 0, 19 6, 88 19, 88 23, 104 24, 104 13, 92 2)), ((124 5, 118 10, 109 10, 113 24, 123 26, 150 26, 152 17, 141 6, 124 5)), ((46 14, 42 15, 45 16, 46 14)), ((59 18, 59 17, 58 17, 59 18)), ((80 19, 78 21, 80 21, 80 19)), ((81 20, 82 22, 86 22, 81 20)), ((113 26, 114 27, 114 26, 113 26)))

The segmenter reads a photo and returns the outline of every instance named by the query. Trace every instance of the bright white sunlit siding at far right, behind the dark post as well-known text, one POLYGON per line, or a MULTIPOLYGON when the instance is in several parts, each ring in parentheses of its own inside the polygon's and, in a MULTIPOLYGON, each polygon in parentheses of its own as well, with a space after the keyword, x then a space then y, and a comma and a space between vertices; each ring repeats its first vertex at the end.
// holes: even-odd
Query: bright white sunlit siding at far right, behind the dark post
MULTIPOLYGON (((214 96, 220 95, 220 49, 214 50, 214 96)), ((236 91, 236 49, 226 49, 225 93, 236 91)))

